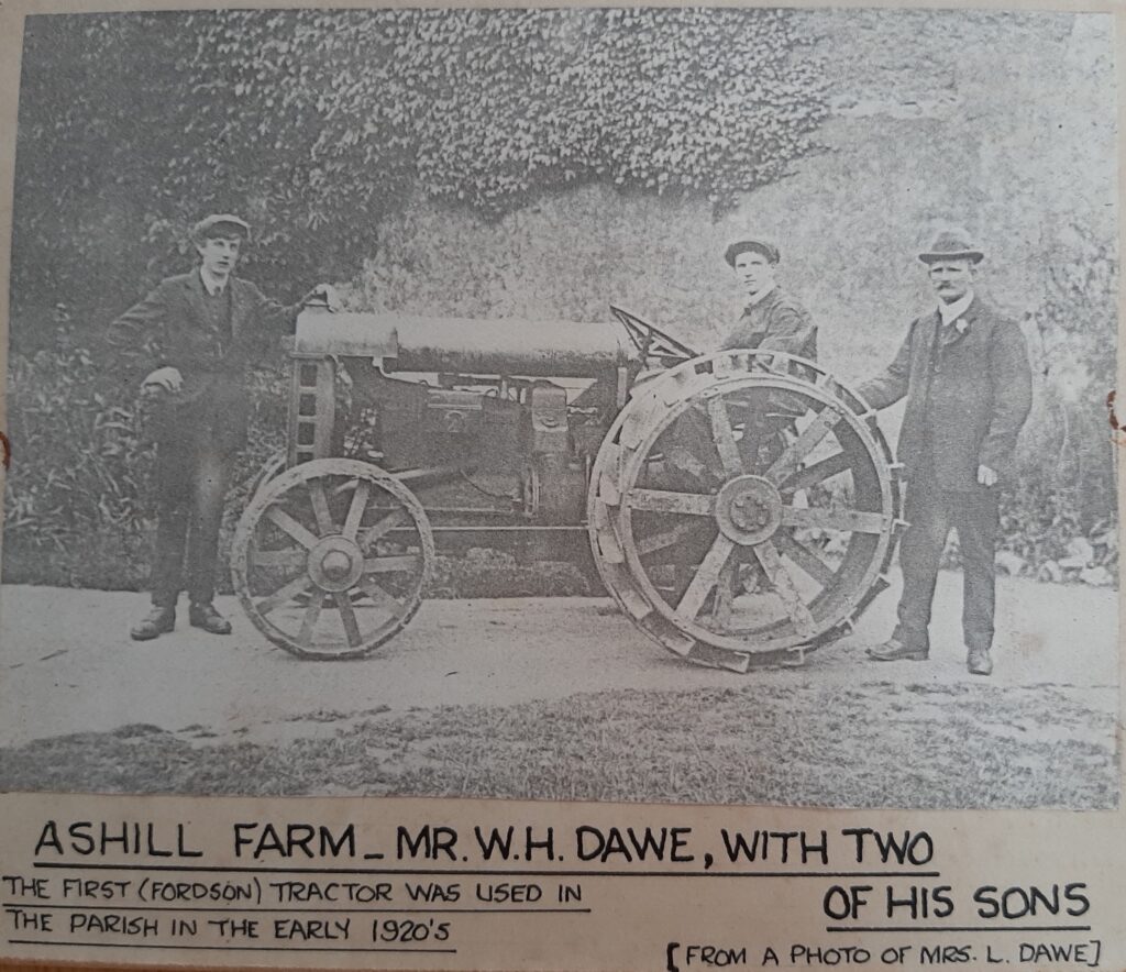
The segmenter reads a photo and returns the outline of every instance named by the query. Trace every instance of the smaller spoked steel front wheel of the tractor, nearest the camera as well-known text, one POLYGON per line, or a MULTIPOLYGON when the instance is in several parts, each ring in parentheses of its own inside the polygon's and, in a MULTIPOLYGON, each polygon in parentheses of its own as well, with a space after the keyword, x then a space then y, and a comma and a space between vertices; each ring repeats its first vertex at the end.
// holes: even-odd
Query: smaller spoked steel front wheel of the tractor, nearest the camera
POLYGON ((254 626, 302 658, 369 654, 418 610, 435 556, 414 494, 328 458, 267 481, 235 530, 234 588, 254 626))

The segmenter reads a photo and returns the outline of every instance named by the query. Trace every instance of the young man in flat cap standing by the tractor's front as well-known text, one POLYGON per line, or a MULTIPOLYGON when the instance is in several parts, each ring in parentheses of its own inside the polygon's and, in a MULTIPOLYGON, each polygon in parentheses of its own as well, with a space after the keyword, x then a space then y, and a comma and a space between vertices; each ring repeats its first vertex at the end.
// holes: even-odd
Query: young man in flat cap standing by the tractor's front
POLYGON ((199 266, 161 282, 109 330, 131 372, 144 375, 157 442, 152 610, 129 632, 135 641, 172 631, 185 587, 188 623, 230 634, 213 604, 215 562, 230 466, 247 442, 247 367, 271 336, 293 330, 312 296, 334 298, 321 285, 283 306, 234 276, 249 237, 247 223, 229 213, 202 220, 191 233, 199 266))

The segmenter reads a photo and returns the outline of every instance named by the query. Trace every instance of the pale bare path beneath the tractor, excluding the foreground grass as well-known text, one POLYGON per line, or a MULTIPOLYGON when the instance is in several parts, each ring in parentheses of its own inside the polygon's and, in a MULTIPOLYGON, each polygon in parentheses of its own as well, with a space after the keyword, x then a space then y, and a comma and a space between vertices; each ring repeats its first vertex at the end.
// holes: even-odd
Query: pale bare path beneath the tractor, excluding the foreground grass
MULTIPOLYGON (((958 636, 960 576, 940 578, 930 662, 877 665, 864 645, 886 636, 897 590, 885 592, 856 634, 802 669, 747 676, 696 668, 651 643, 608 600, 526 598, 427 601, 376 656, 309 662, 274 648, 220 599, 235 630, 215 637, 181 628, 128 640, 145 609, 134 594, 6 587, 0 590, 0 746, 144 723, 212 739, 283 741, 318 723, 388 707, 508 705, 614 689, 767 685, 949 685, 972 680, 958 636), (214 735, 212 735, 214 733, 214 735)), ((1002 578, 995 686, 1063 690, 1084 707, 1118 704, 1117 595, 1002 578)))

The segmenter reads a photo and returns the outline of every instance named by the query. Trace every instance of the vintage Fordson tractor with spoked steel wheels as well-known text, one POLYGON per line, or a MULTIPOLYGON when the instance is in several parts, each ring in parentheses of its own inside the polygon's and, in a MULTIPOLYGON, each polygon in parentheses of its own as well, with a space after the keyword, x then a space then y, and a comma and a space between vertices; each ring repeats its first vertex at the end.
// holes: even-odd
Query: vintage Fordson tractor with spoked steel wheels
POLYGON ((875 417, 816 365, 697 356, 620 323, 306 309, 288 454, 239 523, 234 586, 303 658, 402 630, 437 552, 592 555, 629 618, 701 665, 799 662, 886 586, 901 526, 875 417))

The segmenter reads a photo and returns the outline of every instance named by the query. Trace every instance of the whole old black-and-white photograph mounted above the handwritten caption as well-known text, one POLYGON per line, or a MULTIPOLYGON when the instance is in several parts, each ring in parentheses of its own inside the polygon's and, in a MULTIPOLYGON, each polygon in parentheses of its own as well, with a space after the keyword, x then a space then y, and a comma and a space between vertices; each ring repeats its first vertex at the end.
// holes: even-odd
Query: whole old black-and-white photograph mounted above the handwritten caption
POLYGON ((21 50, 0 791, 1118 808, 1114 15, 21 50))

